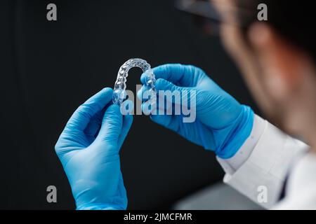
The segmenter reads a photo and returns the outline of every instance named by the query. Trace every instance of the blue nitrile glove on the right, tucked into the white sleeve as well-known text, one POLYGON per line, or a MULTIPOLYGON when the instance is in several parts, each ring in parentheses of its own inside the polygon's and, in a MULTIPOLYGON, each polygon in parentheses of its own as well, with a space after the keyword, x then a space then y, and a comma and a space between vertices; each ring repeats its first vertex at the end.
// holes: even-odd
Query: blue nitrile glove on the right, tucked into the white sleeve
MULTIPOLYGON (((249 106, 239 104, 195 66, 164 64, 153 71, 157 78, 157 92, 196 90, 196 120, 194 123, 183 123, 181 115, 159 115, 158 112, 150 118, 185 139, 215 151, 220 158, 228 159, 235 155, 252 130, 254 112, 249 106)), ((145 83, 145 74, 140 80, 145 83)), ((145 90, 143 85, 138 91, 138 98, 142 99, 145 90)), ((158 99, 157 111, 162 111, 162 99, 158 99)), ((143 109, 146 103, 143 103, 143 109)))

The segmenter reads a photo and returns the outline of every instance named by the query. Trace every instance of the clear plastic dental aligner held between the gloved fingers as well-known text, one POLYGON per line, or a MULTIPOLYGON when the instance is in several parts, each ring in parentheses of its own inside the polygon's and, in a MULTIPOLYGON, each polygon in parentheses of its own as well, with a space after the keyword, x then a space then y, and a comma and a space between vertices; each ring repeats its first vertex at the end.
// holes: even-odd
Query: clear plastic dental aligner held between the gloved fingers
MULTIPOLYGON (((150 64, 148 64, 144 59, 132 58, 126 61, 119 68, 119 72, 117 73, 117 80, 115 81, 113 89, 113 104, 121 104, 124 101, 126 97, 126 78, 127 76, 129 76, 129 69, 133 67, 138 67, 143 70, 143 73, 146 74, 145 84, 147 90, 152 92, 153 95, 156 94, 156 88, 154 86, 156 78, 154 78, 154 73, 152 72, 152 69, 150 69, 150 64)), ((153 98, 150 100, 153 100, 153 98)))

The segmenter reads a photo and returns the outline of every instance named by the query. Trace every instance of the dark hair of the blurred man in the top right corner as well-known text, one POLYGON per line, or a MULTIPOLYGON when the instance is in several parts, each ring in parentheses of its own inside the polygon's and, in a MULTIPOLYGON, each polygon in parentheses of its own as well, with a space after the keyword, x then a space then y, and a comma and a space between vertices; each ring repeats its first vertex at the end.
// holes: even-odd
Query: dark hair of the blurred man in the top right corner
POLYGON ((256 11, 260 3, 268 6, 268 23, 316 62, 315 8, 312 1, 237 0, 238 6, 256 11))

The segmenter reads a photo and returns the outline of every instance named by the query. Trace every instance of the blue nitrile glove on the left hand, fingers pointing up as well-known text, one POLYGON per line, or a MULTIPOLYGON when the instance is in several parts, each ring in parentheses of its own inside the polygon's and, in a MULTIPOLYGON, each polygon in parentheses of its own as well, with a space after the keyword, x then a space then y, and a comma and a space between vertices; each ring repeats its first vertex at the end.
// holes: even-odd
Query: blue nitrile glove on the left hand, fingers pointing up
POLYGON ((119 148, 133 116, 122 116, 105 88, 79 106, 55 151, 72 188, 77 209, 126 209, 119 148))

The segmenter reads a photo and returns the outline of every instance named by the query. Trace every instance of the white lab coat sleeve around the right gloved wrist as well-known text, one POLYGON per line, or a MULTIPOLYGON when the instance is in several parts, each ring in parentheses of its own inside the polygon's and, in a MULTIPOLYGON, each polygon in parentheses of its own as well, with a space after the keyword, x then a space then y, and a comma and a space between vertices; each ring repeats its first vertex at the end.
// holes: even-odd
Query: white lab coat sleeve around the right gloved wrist
POLYGON ((269 209, 279 200, 291 161, 307 150, 306 144, 256 116, 253 131, 237 155, 218 162, 226 172, 225 183, 269 209))

